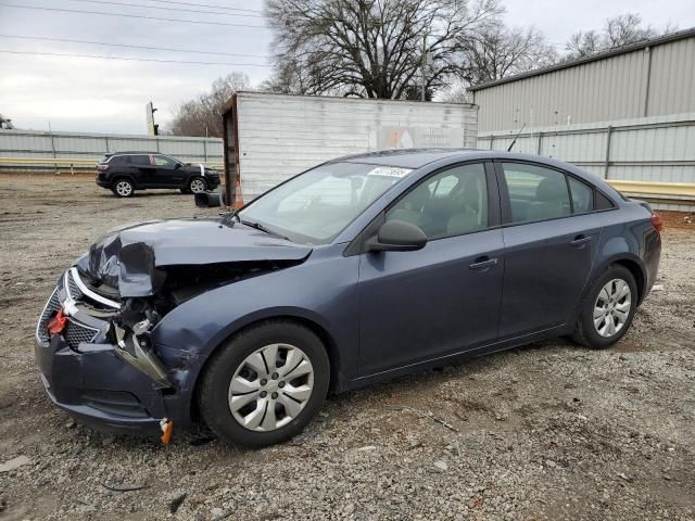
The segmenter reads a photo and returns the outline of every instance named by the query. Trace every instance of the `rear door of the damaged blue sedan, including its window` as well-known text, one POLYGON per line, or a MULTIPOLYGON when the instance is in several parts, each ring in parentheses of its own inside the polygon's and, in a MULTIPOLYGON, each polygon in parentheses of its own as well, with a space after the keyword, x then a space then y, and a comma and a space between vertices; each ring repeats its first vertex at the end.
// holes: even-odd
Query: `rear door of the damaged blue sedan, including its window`
POLYGON ((596 256, 593 188, 547 166, 496 162, 505 274, 501 340, 566 323, 596 256), (571 189, 571 195, 570 195, 571 189))

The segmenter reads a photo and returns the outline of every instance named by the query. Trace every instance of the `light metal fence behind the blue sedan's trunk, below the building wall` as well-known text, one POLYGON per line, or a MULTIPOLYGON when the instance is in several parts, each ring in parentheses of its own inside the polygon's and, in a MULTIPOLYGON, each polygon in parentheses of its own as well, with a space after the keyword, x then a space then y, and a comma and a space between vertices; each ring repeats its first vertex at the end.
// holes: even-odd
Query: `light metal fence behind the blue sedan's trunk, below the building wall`
MULTIPOLYGON (((479 134, 478 148, 506 150, 518 131, 479 134)), ((695 113, 528 128, 513 150, 567 161, 662 209, 695 208, 695 113)))

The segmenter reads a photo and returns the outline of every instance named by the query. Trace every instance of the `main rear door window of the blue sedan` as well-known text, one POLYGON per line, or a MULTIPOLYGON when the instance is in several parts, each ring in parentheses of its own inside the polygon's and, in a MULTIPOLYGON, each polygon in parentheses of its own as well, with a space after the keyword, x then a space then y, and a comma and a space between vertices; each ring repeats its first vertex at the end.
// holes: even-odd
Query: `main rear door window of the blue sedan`
POLYGON ((565 174, 542 166, 503 163, 513 223, 533 223, 571 214, 565 174))

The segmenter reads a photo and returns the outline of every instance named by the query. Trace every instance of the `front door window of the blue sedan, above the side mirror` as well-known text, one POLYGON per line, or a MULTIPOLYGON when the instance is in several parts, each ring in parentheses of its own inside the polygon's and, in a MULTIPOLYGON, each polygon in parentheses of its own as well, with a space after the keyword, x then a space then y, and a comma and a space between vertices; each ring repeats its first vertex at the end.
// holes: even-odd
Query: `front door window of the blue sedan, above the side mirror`
POLYGON ((418 226, 428 239, 488 228, 488 183, 482 163, 455 166, 430 177, 387 212, 387 220, 418 226))

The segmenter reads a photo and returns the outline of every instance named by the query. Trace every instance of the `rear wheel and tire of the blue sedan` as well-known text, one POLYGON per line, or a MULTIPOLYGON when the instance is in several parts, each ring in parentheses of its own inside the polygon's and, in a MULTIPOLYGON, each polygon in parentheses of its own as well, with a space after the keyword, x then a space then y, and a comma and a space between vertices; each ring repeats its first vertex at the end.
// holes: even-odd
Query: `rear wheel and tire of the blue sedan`
POLYGON ((619 265, 609 266, 586 294, 572 340, 594 350, 610 347, 630 329, 637 296, 637 284, 630 270, 619 265))

